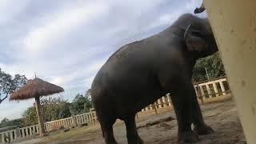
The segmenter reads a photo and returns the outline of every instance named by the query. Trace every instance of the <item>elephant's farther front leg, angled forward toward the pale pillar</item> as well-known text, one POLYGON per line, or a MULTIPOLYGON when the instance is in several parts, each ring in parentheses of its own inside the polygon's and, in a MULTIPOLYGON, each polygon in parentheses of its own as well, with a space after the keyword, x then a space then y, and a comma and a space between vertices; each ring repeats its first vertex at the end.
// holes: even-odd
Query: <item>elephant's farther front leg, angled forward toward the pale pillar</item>
POLYGON ((199 135, 214 133, 214 130, 210 126, 207 126, 206 123, 203 121, 202 112, 198 104, 197 95, 195 94, 194 89, 191 91, 191 96, 193 114, 192 121, 194 124, 194 131, 197 132, 199 135))

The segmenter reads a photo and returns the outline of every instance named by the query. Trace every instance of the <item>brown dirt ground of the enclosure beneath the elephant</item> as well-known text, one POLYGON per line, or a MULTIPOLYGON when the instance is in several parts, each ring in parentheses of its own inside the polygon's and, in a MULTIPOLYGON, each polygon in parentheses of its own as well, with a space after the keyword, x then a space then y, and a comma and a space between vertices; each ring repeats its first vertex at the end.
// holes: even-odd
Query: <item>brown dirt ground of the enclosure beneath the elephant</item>
MULTIPOLYGON (((199 142, 196 142, 197 144, 246 143, 234 102, 228 101, 207 104, 201 107, 205 122, 214 129, 214 134, 199 136, 199 142)), ((158 114, 148 114, 146 116, 139 114, 138 116, 138 133, 145 143, 177 143, 178 126, 174 110, 166 108, 158 111, 158 114)), ((126 127, 123 122, 118 121, 114 124, 114 135, 118 143, 127 143, 126 127)), ((62 132, 62 134, 49 136, 33 143, 103 144, 104 141, 100 126, 97 125, 89 129, 79 128, 66 133, 62 132)))

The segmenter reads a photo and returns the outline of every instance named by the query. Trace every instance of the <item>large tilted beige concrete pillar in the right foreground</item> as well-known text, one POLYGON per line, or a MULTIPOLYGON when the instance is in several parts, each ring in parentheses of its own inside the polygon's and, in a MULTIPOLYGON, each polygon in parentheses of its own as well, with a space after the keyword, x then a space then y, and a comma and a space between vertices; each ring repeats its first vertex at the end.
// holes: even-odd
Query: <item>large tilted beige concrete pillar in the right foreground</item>
POLYGON ((256 1, 205 0, 246 142, 256 142, 256 1))

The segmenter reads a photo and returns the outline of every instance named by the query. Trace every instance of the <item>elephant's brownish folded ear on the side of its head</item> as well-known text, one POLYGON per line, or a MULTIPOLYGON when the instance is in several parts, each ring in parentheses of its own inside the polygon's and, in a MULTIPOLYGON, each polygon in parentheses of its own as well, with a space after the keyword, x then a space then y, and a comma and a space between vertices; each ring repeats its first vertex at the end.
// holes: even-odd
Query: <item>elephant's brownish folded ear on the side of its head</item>
POLYGON ((203 39, 203 34, 199 30, 194 30, 193 27, 187 26, 186 32, 184 34, 184 40, 186 46, 190 51, 202 52, 207 50, 207 43, 203 39))

